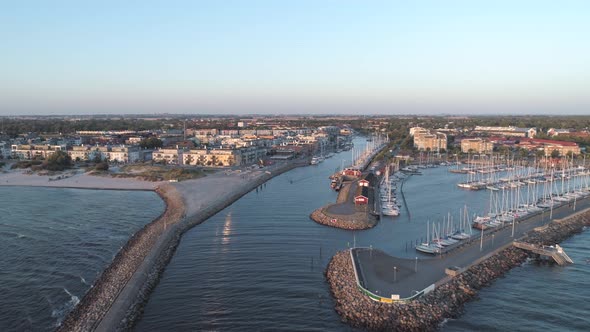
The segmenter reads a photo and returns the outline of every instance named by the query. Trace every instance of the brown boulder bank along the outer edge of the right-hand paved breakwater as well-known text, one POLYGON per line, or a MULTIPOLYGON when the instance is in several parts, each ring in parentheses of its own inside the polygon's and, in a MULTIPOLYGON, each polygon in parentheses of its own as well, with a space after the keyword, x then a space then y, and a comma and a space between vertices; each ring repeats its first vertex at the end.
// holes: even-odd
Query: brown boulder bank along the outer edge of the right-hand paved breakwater
MULTIPOLYGON (((554 220, 530 232, 524 240, 553 245, 581 232, 584 226, 590 226, 590 210, 554 220)), ((335 310, 348 325, 371 331, 433 331, 444 319, 460 315, 463 305, 477 295, 477 290, 521 265, 528 257, 527 252, 510 246, 408 303, 379 303, 362 294, 356 285, 348 250, 332 258, 326 279, 335 299, 335 310)))

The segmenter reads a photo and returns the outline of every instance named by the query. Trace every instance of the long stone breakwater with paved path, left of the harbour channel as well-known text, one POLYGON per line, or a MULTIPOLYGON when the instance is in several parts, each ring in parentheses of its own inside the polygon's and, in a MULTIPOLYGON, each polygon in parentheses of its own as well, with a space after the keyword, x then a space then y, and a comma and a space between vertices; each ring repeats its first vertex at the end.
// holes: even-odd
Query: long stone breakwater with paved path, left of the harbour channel
POLYGON ((141 317, 143 306, 174 255, 182 234, 207 220, 269 179, 307 162, 280 165, 271 172, 234 188, 195 215, 185 215, 184 199, 173 185, 156 192, 166 209, 135 233, 117 253, 80 303, 68 314, 59 331, 128 330, 141 317))

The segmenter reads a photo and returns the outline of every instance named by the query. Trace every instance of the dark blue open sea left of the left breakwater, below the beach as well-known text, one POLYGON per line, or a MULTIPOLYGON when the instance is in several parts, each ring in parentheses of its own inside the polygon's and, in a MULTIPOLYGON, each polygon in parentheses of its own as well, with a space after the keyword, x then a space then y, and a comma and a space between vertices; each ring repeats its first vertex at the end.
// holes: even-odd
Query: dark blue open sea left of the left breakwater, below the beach
POLYGON ((0 331, 52 331, 129 237, 153 192, 0 187, 0 331))

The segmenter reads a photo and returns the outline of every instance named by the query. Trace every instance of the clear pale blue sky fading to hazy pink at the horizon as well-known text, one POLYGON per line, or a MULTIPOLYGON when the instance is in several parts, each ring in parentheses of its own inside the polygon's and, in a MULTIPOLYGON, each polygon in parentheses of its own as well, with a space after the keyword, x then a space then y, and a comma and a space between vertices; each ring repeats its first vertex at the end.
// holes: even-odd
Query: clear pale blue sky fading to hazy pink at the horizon
POLYGON ((0 115, 590 114, 590 1, 0 1, 0 115))

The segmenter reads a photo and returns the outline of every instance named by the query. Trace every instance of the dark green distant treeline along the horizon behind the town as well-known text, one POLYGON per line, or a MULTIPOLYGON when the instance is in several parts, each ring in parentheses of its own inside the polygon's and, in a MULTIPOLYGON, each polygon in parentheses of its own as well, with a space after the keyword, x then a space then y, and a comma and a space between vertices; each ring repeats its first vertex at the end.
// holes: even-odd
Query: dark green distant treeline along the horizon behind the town
MULTIPOLYGON (((217 128, 238 129, 235 118, 216 118, 200 121, 198 118, 181 119, 146 119, 146 118, 89 118, 89 119, 59 119, 59 118, 0 118, 0 131, 11 137, 19 134, 35 132, 46 134, 72 134, 80 130, 157 130, 182 128, 217 128)), ((516 126, 522 128, 536 127, 546 132, 549 128, 565 128, 583 130, 590 127, 590 116, 478 116, 478 117, 449 117, 449 116, 366 116, 356 119, 335 119, 325 117, 305 117, 297 120, 272 119, 269 123, 292 126, 296 128, 314 128, 319 126, 348 124, 362 133, 368 133, 375 128, 383 128, 393 138, 403 138, 409 127, 421 126, 425 128, 470 128, 475 126, 516 126)), ((248 127, 248 129, 266 129, 268 127, 248 127)))

